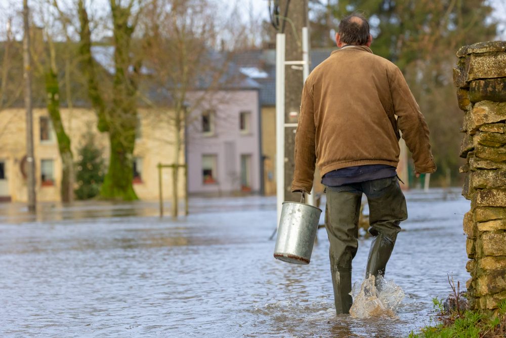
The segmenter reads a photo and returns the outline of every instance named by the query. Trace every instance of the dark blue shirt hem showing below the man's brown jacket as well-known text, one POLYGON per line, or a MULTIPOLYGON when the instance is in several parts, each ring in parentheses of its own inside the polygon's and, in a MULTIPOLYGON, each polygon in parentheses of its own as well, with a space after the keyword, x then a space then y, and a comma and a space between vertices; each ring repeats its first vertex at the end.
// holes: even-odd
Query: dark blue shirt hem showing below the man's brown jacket
POLYGON ((370 164, 342 168, 327 172, 321 182, 327 186, 340 186, 351 183, 370 181, 372 179, 387 178, 397 175, 395 167, 385 164, 370 164))

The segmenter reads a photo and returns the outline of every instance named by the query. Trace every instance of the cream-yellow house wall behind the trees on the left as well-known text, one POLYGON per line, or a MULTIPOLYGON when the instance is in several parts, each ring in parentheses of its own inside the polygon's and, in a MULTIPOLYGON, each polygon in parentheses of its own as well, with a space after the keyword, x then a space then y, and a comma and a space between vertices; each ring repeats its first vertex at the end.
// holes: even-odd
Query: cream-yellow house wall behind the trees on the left
MULTIPOLYGON (((175 151, 171 146, 171 127, 160 117, 162 112, 139 110, 139 129, 134 151, 134 190, 143 200, 158 199, 157 164, 171 164, 175 151)), ((0 200, 13 202, 27 201, 26 186, 26 119, 24 109, 0 111, 0 200)), ((62 122, 71 139, 74 161, 78 149, 88 132, 95 134, 95 141, 103 150, 107 165, 109 139, 100 133, 97 117, 92 110, 74 108, 61 110, 62 122)), ((33 110, 33 145, 35 158, 35 191, 37 201, 60 201, 62 162, 58 151, 56 134, 46 109, 33 110)), ((184 148, 180 151, 184 161, 184 148)), ((105 168, 107 169, 107 167, 105 168)), ((184 197, 184 173, 180 173, 178 192, 184 197)), ((172 192, 171 169, 162 172, 163 195, 169 199, 172 192)))

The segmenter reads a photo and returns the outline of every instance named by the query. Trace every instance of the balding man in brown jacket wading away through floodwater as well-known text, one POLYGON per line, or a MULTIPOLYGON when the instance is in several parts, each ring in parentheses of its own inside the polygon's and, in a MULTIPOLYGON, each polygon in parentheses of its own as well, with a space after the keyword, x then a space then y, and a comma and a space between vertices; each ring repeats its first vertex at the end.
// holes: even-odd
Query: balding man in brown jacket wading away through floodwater
POLYGON ((417 176, 435 172, 436 165, 424 116, 399 68, 369 49, 372 36, 365 17, 344 18, 335 40, 340 49, 311 72, 302 92, 292 192, 311 191, 316 163, 326 187, 335 311, 342 314, 352 305, 362 194, 374 236, 367 278, 385 274, 399 223, 407 218, 396 173, 400 132, 417 176))

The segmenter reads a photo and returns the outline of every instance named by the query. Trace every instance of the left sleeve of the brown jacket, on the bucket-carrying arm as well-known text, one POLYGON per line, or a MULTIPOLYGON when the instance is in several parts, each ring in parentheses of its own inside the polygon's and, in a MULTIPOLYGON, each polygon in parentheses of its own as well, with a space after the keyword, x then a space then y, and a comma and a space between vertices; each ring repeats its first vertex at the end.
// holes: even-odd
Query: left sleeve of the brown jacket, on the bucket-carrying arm
POLYGON ((311 192, 315 171, 315 121, 313 106, 313 90, 306 81, 302 90, 301 114, 295 135, 295 171, 291 191, 311 192))

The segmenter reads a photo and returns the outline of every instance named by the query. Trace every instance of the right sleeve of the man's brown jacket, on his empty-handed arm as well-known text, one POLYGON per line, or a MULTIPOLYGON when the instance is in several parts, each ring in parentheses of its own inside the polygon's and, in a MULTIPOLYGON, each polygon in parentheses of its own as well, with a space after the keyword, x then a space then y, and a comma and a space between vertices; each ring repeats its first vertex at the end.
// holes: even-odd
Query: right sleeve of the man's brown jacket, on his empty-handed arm
POLYGON ((394 114, 397 115, 397 126, 413 156, 415 171, 418 173, 435 172, 436 164, 431 153, 429 127, 398 67, 395 67, 390 90, 394 114))

